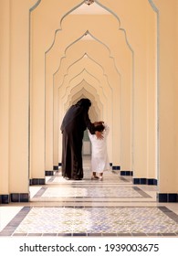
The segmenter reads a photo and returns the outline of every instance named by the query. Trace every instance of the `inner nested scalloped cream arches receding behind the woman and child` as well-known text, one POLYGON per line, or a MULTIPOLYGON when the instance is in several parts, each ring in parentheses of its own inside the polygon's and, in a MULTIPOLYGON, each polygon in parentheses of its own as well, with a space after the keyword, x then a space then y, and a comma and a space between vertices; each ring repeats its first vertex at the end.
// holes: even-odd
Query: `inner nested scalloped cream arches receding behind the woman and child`
MULTIPOLYGON (((60 13, 56 29, 52 27, 53 37, 50 33, 50 43, 48 39, 43 52, 45 54, 45 72, 43 74, 46 87, 46 161, 49 163, 46 167, 51 168, 52 165, 58 165, 60 153, 57 156, 59 149, 54 142, 59 137, 59 120, 61 120, 68 105, 74 99, 79 99, 79 95, 91 97, 89 93, 93 93, 93 97, 91 97, 93 106, 96 109, 101 108, 99 112, 103 112, 103 104, 99 106, 95 103, 97 95, 99 95, 98 102, 104 102, 104 106, 107 105, 107 110, 110 109, 106 118, 109 118, 112 130, 111 162, 131 170, 134 157, 134 140, 132 139, 135 115, 134 51, 129 43, 128 31, 120 26, 120 17, 117 12, 107 6, 106 1, 102 1, 102 4, 100 1, 95 1, 95 5, 109 13, 104 18, 99 16, 98 20, 96 16, 92 16, 93 24, 97 20, 98 26, 91 26, 91 16, 89 21, 87 21, 86 16, 82 16, 82 20, 85 22, 79 26, 81 16, 74 13, 81 5, 85 5, 84 2, 74 0, 74 4, 68 3, 68 7, 67 5, 64 7, 66 11, 63 14, 60 13), (110 30, 107 26, 105 27, 106 17, 110 19, 110 30), (68 25, 74 21, 78 29, 73 31, 74 33, 70 33, 71 30, 68 25), (97 30, 97 27, 103 26, 106 28, 104 31, 97 30), (66 37, 67 35, 68 37, 66 37), (112 37, 112 41, 108 35, 112 37), (92 48, 95 51, 92 51, 92 48), (86 66, 82 67, 82 63, 85 63, 86 66), (92 72, 92 69, 96 72, 92 72), (94 87, 97 88, 97 92, 91 90, 94 87), (68 97, 68 95, 70 96, 68 97), (107 100, 104 100, 106 98, 107 100), (60 104, 62 106, 59 108, 60 104), (126 111, 128 118, 125 115, 126 111), (126 125, 127 130, 124 128, 126 125), (53 139, 51 139, 51 133, 53 133, 53 139), (114 148, 117 148, 118 152, 115 152, 114 148), (129 155, 128 158, 125 157, 126 152, 129 155), (51 155, 50 159, 47 159, 47 155, 51 155)), ((38 1, 38 5, 39 3, 43 5, 41 1, 38 1)), ((152 1, 149 3, 152 5, 152 1)), ((114 5, 112 3, 110 6, 114 5)), ((95 116, 97 115, 95 114, 95 116)))

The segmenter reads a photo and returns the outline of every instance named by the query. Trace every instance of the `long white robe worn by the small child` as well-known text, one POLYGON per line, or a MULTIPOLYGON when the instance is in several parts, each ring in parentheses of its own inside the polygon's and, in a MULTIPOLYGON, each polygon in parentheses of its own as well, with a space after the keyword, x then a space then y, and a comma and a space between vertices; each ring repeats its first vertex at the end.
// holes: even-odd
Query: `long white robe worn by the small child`
MULTIPOLYGON (((107 151, 107 137, 110 128, 107 124, 104 124, 105 129, 103 131, 103 139, 99 140, 96 134, 89 133, 89 139, 91 142, 91 171, 97 173, 103 173, 105 170, 110 169, 108 151, 107 151)), ((89 131, 88 131, 89 132, 89 131)))

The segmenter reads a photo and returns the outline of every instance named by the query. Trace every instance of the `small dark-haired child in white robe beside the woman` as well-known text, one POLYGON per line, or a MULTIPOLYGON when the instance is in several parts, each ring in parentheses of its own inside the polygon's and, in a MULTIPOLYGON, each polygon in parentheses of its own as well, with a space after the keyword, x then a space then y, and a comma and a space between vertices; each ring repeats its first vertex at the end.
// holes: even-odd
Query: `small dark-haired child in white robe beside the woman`
POLYGON ((103 139, 99 140, 96 134, 89 133, 89 140, 91 142, 91 179, 99 179, 101 181, 103 171, 110 168, 107 151, 107 137, 110 128, 106 123, 96 122, 95 130, 102 132, 103 139), (96 173, 99 173, 99 176, 97 176, 96 173))

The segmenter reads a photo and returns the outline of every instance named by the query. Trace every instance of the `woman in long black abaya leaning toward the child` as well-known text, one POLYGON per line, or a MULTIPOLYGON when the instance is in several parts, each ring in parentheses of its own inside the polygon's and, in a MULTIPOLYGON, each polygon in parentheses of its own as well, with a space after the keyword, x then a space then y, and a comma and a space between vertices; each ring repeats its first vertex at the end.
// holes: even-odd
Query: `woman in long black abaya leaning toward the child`
MULTIPOLYGON (((62 121, 62 176, 67 179, 82 179, 82 140, 84 131, 88 128, 95 133, 94 123, 89 120, 89 99, 81 99, 72 105, 62 121)), ((99 139, 101 133, 96 132, 99 139)))

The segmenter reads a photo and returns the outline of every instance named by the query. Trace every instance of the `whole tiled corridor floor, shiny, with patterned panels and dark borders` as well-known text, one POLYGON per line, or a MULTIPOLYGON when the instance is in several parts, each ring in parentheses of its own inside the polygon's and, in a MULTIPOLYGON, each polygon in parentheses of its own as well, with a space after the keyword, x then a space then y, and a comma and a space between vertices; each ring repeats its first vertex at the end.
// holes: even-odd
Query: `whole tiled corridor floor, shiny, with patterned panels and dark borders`
POLYGON ((178 204, 158 203, 156 186, 107 171, 91 180, 65 180, 60 169, 45 186, 30 187, 29 203, 0 207, 0 236, 178 237, 178 204))

